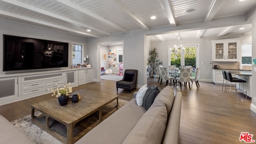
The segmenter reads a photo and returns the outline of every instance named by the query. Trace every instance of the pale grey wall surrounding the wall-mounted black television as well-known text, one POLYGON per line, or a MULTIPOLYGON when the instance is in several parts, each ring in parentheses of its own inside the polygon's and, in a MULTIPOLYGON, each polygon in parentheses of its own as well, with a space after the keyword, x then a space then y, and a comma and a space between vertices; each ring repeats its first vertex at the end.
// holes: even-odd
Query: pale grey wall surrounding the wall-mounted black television
MULTIPOLYGON (((36 71, 60 69, 60 68, 50 68, 50 69, 40 69, 40 70, 21 70, 21 71, 3 72, 3 59, 2 59, 3 34, 13 35, 13 36, 22 36, 22 37, 28 37, 28 38, 38 38, 43 40, 54 40, 59 42, 68 42, 69 53, 70 53, 68 57, 68 66, 72 65, 72 46, 71 46, 72 42, 84 44, 84 48, 86 51, 86 38, 84 37, 0 19, 0 57, 1 57, 0 58, 0 75, 8 74, 8 73, 36 72, 36 71)), ((69 68, 69 67, 66 67, 66 68, 69 68)))

